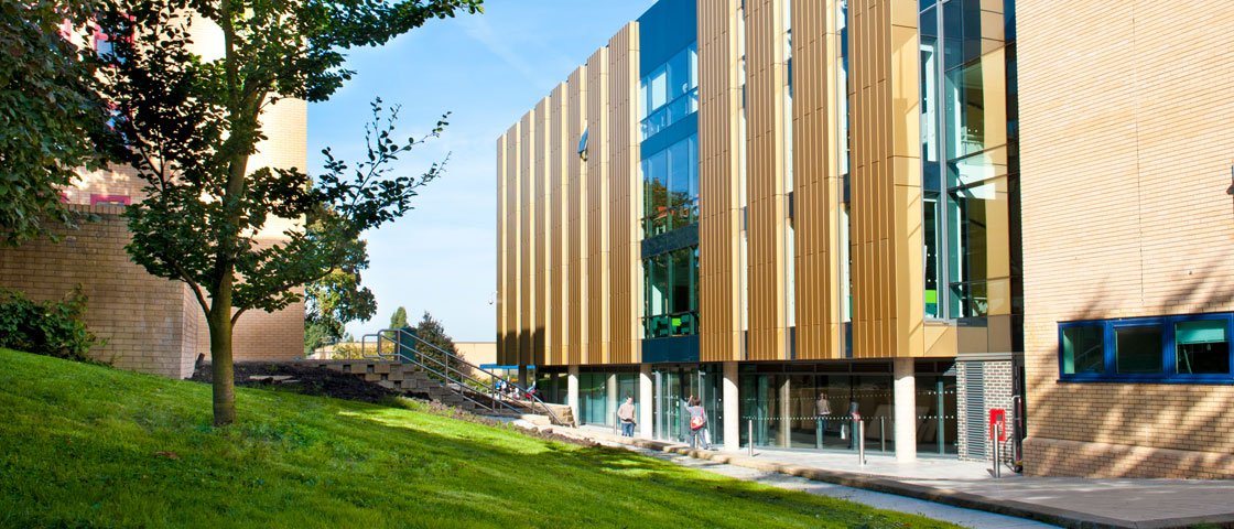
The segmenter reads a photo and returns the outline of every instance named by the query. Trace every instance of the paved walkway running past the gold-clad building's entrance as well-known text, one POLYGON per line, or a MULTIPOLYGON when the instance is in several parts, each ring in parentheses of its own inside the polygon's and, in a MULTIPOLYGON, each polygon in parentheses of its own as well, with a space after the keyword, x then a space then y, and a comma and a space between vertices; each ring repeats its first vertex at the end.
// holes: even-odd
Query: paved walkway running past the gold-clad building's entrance
POLYGON ((949 459, 922 457, 913 464, 897 464, 892 456, 868 455, 866 465, 861 466, 850 453, 756 450, 750 457, 745 451, 692 450, 681 444, 621 438, 608 429, 554 427, 553 430, 660 453, 668 460, 734 477, 848 497, 879 508, 919 512, 969 527, 1046 527, 1023 525, 1032 523, 1028 519, 1072 528, 1174 528, 1202 523, 1234 527, 1234 481, 1086 480, 1023 477, 1009 472, 996 480, 987 465, 949 459), (790 476, 800 476, 800 480, 790 476), (832 488, 835 485, 844 487, 832 488), (896 494, 901 501, 916 498, 924 501, 923 504, 946 504, 970 513, 970 509, 979 509, 1023 519, 949 518, 966 514, 927 512, 929 506, 917 503, 892 503, 893 499, 885 498, 888 494, 865 496, 872 493, 870 491, 896 494))

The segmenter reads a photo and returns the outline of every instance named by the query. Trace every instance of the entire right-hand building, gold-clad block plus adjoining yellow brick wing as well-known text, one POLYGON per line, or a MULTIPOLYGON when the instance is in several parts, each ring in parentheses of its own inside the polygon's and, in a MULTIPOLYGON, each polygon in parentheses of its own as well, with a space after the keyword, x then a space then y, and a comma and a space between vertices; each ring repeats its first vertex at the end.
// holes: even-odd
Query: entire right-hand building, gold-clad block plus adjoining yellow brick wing
POLYGON ((855 411, 900 460, 1234 477, 1234 4, 1188 6, 660 0, 497 141, 499 363, 648 438, 692 395, 728 449, 855 411))

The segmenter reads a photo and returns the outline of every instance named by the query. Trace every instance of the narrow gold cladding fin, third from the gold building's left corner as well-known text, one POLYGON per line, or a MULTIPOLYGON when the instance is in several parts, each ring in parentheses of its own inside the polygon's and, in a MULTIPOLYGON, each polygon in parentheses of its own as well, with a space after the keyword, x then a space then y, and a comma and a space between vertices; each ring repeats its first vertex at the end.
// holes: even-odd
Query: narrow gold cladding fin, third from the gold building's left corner
POLYGON ((518 364, 531 359, 536 311, 536 111, 523 115, 518 141, 518 364))

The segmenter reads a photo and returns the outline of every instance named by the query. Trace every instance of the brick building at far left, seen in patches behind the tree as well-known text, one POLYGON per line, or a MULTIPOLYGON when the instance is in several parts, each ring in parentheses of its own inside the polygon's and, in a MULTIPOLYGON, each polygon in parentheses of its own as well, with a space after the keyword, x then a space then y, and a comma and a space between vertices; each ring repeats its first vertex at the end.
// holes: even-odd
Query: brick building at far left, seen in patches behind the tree
MULTIPOLYGON (((209 21, 194 23, 195 52, 221 57, 222 32, 209 21)), ((106 46, 99 38, 90 46, 106 46)), ((281 99, 262 118, 267 139, 249 159, 252 168, 307 166, 307 104, 281 99)), ((117 367, 170 377, 193 374, 199 354, 210 355, 210 332, 193 292, 179 281, 149 275, 133 264, 125 245, 132 236, 120 215, 141 201, 143 182, 127 168, 83 171, 65 189, 69 207, 95 213, 97 222, 64 231, 64 240, 38 239, 0 248, 0 287, 35 300, 58 300, 80 285, 89 297, 86 324, 106 343, 91 350, 117 367)), ((290 221, 268 223, 258 239, 281 240, 290 221)), ((253 311, 233 330, 236 360, 285 360, 304 356, 304 302, 267 313, 253 311)))

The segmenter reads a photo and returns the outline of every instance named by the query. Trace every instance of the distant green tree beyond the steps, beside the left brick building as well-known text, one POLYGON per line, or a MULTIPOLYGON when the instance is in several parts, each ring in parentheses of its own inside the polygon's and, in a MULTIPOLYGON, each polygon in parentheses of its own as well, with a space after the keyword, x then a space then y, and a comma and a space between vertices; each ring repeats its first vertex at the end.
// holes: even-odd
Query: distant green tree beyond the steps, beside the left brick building
POLYGON ((347 323, 369 319, 378 311, 373 291, 360 286, 360 270, 369 265, 366 243, 357 240, 355 245, 355 259, 305 286, 305 354, 337 343, 347 323))

